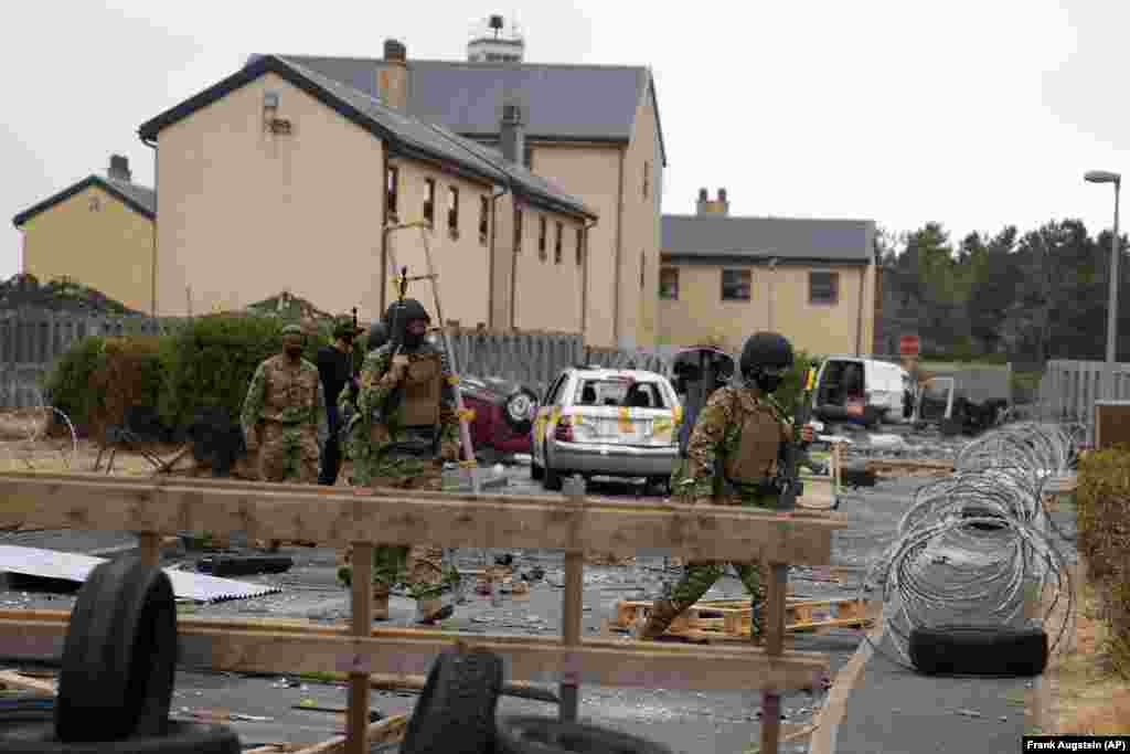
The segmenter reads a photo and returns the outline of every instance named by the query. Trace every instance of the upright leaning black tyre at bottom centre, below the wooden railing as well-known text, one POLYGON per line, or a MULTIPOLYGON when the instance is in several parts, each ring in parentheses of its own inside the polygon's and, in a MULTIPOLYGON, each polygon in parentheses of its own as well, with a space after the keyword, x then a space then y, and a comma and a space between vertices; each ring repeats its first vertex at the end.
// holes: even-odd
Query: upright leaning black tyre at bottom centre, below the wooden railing
POLYGON ((408 719, 402 754, 492 754, 502 658, 481 649, 440 655, 408 719))

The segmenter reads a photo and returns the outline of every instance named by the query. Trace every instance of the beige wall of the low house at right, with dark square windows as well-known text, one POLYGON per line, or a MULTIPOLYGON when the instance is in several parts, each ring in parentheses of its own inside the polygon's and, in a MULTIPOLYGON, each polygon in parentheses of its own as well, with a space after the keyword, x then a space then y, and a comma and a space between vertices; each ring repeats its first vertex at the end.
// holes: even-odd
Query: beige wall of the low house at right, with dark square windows
POLYGON ((678 300, 659 302, 664 344, 689 346, 715 339, 737 349, 758 330, 776 330, 794 348, 810 353, 870 353, 875 331, 873 265, 781 265, 775 271, 749 262, 667 262, 663 267, 676 268, 679 275, 678 300), (722 301, 723 269, 750 271, 749 301, 722 301), (835 304, 809 303, 812 270, 840 274, 835 304))

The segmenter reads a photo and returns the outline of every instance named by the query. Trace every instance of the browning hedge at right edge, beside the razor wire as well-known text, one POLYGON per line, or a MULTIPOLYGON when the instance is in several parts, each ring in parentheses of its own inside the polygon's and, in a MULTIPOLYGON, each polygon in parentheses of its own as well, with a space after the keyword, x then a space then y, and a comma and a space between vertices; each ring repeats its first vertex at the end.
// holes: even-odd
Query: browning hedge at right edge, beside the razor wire
POLYGON ((1076 501, 1079 554, 1103 598, 1112 659, 1130 677, 1130 444, 1079 459, 1076 501))

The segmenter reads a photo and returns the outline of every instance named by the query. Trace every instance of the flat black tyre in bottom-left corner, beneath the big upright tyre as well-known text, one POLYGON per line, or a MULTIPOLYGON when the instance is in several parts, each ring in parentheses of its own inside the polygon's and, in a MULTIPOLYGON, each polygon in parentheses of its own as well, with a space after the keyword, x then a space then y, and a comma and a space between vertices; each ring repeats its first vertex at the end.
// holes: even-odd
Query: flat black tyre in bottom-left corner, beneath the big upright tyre
MULTIPOLYGON (((89 725, 98 729, 93 718, 89 725)), ((50 721, 11 722, 0 719, 0 752, 5 754, 240 754, 240 737, 226 726, 169 721, 162 736, 131 736, 106 742, 61 742, 50 721)))

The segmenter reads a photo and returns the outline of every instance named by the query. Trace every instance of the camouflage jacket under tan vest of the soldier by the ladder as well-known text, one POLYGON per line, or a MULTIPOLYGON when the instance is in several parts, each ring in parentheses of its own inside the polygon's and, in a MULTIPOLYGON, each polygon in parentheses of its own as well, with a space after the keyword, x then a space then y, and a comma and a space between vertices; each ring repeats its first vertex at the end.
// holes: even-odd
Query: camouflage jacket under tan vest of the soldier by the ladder
MULTIPOLYGON (((405 356, 423 354, 440 354, 441 380, 443 387, 440 395, 440 450, 455 452, 459 448, 459 414, 455 410, 455 378, 452 374, 447 354, 436 346, 425 343, 412 352, 401 352, 405 356)), ((338 406, 342 414, 350 416, 346 428, 346 450, 349 457, 357 460, 362 456, 372 454, 381 447, 406 440, 406 432, 400 423, 399 411, 393 408, 389 413, 389 398, 398 387, 392 379, 392 345, 386 344, 365 355, 360 367, 360 389, 356 402, 350 402, 349 391, 342 390, 338 406)))

